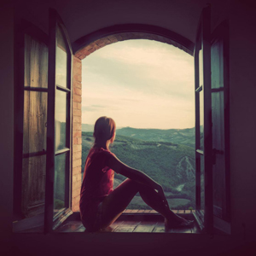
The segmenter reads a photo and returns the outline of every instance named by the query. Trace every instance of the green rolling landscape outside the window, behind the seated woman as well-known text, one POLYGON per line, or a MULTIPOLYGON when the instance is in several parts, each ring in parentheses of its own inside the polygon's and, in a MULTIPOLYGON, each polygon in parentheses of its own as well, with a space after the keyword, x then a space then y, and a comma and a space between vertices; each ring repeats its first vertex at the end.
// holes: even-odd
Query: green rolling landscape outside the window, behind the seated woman
MULTIPOLYGON (((82 125, 82 172, 94 143, 93 125, 82 125)), ((165 191, 172 209, 195 208, 195 128, 119 128, 110 150, 126 165, 154 178, 165 191)), ((83 173, 82 173, 83 175, 83 173)), ((113 187, 126 177, 115 173, 113 187)), ((139 194, 127 209, 151 209, 139 194)))

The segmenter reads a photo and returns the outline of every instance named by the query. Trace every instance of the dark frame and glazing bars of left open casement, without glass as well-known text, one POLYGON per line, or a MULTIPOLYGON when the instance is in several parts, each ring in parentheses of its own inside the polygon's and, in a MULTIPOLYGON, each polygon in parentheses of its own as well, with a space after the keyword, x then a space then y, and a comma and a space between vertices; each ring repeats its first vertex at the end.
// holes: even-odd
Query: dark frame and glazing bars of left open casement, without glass
POLYGON ((44 233, 55 230, 68 216, 73 212, 71 210, 72 193, 72 102, 73 102, 73 83, 72 83, 72 64, 73 49, 71 47, 67 30, 61 17, 55 9, 49 9, 49 66, 48 66, 48 116, 47 116, 47 160, 46 160, 46 182, 45 182, 45 211, 44 211, 44 233), (56 68, 56 27, 59 26, 63 39, 67 47, 67 88, 55 83, 56 68), (67 93, 67 147, 61 150, 55 150, 55 92, 61 90, 67 93), (55 187, 55 156, 67 154, 65 170, 65 208, 54 215, 54 187, 55 187))

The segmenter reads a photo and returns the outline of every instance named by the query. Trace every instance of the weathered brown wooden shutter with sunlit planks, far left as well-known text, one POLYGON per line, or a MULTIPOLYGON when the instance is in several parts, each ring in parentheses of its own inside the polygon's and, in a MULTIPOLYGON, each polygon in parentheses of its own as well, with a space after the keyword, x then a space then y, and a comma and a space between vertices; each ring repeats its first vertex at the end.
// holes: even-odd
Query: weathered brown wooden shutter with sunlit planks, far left
POLYGON ((14 207, 19 219, 44 212, 48 36, 21 20, 16 40, 19 73, 15 90, 14 207))

